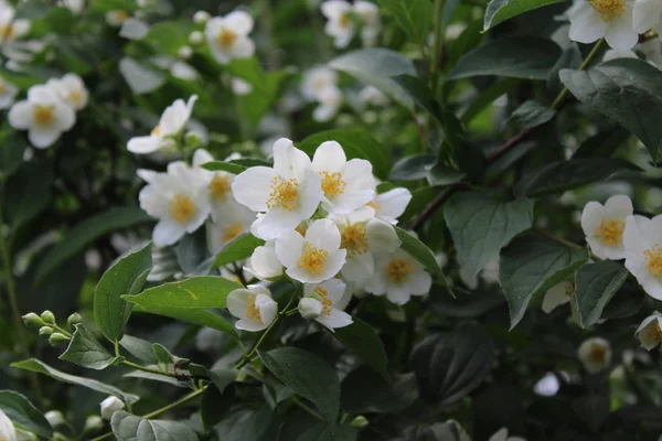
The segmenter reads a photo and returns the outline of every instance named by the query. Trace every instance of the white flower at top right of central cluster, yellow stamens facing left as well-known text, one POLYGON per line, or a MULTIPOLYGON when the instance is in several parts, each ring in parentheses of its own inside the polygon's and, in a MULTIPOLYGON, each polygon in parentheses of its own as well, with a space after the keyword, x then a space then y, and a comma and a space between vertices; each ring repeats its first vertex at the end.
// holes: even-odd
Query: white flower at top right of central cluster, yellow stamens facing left
POLYGON ((320 175, 324 193, 322 206, 330 214, 352 213, 375 197, 372 164, 363 159, 348 161, 344 150, 335 141, 325 141, 318 147, 312 170, 320 175))

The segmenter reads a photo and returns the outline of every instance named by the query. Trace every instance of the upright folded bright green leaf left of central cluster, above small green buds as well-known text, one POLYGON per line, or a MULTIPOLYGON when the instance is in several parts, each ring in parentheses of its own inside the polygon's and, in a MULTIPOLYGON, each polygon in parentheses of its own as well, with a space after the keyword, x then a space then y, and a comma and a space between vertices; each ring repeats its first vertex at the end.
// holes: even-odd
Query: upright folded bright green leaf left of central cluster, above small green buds
POLYGON ((97 283, 94 292, 94 321, 110 342, 121 338, 131 314, 131 304, 121 299, 142 289, 152 268, 151 244, 119 258, 97 283))

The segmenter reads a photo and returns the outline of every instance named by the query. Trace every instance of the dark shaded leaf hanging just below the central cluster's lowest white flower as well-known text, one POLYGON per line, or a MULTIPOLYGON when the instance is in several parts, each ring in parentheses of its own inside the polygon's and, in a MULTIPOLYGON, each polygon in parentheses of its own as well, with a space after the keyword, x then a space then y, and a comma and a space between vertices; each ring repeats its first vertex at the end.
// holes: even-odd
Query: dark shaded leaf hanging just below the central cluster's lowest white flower
POLYGON ((363 363, 389 381, 391 377, 386 369, 388 357, 384 349, 384 343, 371 325, 357 318, 352 318, 352 320, 351 325, 337 329, 333 336, 350 347, 363 363))

